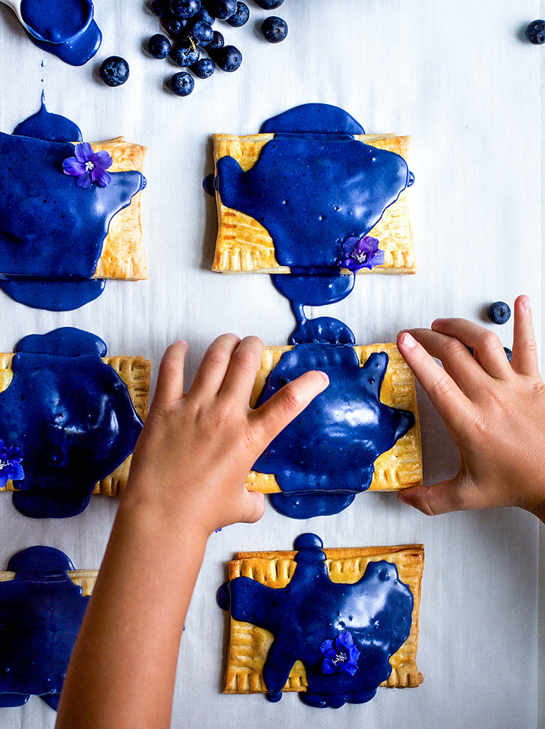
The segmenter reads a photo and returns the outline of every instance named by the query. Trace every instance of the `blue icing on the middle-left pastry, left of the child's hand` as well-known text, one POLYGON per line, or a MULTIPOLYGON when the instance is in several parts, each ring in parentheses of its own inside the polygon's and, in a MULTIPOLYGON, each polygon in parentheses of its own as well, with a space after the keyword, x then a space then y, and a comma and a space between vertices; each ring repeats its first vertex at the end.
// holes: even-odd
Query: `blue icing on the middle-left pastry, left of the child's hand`
POLYGON ((0 438, 23 450, 13 504, 36 518, 77 515, 133 452, 141 419, 96 335, 64 327, 25 337, 15 351, 0 393, 0 438))

